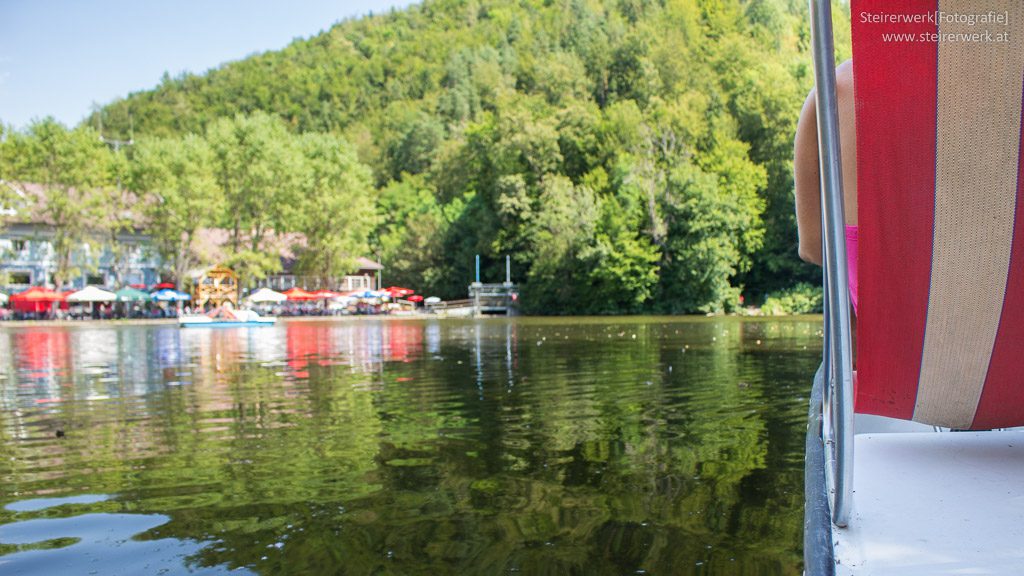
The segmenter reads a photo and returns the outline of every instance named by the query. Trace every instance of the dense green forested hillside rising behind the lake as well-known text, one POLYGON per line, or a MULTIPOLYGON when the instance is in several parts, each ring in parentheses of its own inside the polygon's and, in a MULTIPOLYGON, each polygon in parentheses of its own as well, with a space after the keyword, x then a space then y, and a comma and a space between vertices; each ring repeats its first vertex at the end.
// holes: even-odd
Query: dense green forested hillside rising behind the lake
POLYGON ((808 48, 803 0, 427 0, 99 114, 139 142, 257 112, 347 140, 388 284, 465 297, 474 254, 485 281, 511 254, 530 312, 721 311, 816 282, 792 208, 808 48))

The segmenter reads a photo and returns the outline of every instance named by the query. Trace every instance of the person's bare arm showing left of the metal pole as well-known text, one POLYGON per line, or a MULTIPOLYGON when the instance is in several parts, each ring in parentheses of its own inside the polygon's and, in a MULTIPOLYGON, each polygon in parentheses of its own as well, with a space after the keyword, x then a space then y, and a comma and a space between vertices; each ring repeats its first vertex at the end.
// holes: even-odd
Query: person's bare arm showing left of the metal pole
POLYGON ((794 181, 797 196, 797 232, 801 259, 821 265, 821 192, 818 168, 818 121, 814 90, 804 101, 797 123, 794 181))

